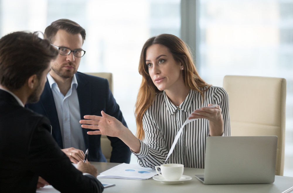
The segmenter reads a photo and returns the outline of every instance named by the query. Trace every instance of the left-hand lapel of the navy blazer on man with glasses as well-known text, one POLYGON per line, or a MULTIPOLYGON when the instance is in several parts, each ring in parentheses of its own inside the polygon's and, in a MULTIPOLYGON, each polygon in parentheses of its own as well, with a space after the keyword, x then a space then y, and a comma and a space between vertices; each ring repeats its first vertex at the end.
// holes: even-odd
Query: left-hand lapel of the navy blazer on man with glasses
POLYGON ((52 90, 48 80, 45 84, 44 91, 40 97, 40 103, 45 109, 47 117, 51 120, 52 136, 56 139, 59 147, 63 149, 63 141, 62 141, 58 114, 57 114, 52 90))

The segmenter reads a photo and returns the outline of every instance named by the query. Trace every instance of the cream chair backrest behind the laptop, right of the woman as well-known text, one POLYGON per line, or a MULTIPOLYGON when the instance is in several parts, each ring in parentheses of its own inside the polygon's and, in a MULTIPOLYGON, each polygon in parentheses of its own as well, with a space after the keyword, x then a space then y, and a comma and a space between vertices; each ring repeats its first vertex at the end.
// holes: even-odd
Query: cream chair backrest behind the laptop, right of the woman
POLYGON ((286 79, 226 75, 231 136, 278 137, 276 175, 284 173, 286 79))

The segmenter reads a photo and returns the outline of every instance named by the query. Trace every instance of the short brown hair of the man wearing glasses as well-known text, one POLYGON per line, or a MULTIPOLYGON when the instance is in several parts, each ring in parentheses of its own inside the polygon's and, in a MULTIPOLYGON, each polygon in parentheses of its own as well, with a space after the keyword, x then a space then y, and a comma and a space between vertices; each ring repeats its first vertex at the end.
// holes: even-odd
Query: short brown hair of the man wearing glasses
POLYGON ((53 21, 51 25, 46 27, 44 35, 45 39, 48 39, 50 43, 54 42, 54 37, 58 30, 65 30, 70 34, 81 34, 82 43, 86 39, 86 30, 82 28, 78 23, 71 21, 69 19, 59 19, 53 21))

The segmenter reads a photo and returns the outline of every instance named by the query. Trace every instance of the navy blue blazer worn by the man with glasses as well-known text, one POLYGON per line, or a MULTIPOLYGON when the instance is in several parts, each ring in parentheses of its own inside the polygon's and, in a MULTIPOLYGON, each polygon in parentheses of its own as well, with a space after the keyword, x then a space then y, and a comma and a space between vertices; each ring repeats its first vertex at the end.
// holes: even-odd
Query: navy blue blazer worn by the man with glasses
MULTIPOLYGON (((127 127, 122 116, 119 105, 116 103, 107 79, 86 75, 77 72, 76 80, 78 83, 77 95, 79 100, 81 119, 85 115, 101 116, 101 111, 117 118, 127 127)), ((58 114, 54 102, 52 90, 49 82, 45 84, 40 101, 35 104, 27 104, 26 107, 49 118, 52 125, 52 136, 61 149, 63 148, 62 135, 58 114)), ((88 149, 88 161, 107 162, 101 151, 100 135, 88 135, 90 129, 81 128, 83 132, 85 147, 88 149)), ((113 147, 110 162, 129 163, 131 151, 129 147, 117 137, 108 137, 113 147)))

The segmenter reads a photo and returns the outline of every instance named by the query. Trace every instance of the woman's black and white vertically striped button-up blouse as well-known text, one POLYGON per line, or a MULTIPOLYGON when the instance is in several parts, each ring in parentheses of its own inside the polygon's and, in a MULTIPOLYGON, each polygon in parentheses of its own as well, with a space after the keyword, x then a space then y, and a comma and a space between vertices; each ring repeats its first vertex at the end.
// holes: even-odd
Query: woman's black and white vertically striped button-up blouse
MULTIPOLYGON (((205 89, 207 87, 201 88, 205 89)), ((230 136, 229 98, 223 88, 211 86, 204 92, 204 97, 199 92, 190 90, 179 107, 171 103, 165 92, 156 94, 154 103, 144 113, 142 120, 145 139, 144 142, 140 141, 140 152, 135 154, 139 165, 154 168, 163 164, 185 120, 197 108, 206 107, 208 104, 217 104, 221 107, 223 136, 230 136)), ((184 167, 204 168, 209 120, 197 119, 184 127, 167 162, 181 163, 184 167)))

